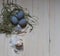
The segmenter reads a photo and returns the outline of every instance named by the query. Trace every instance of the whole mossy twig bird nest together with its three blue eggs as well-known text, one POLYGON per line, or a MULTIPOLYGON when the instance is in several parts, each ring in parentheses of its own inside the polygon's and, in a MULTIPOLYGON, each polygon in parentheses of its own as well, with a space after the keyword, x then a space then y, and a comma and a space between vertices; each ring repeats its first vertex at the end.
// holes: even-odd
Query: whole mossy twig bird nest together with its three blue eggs
POLYGON ((33 25, 36 18, 33 18, 27 9, 19 6, 18 4, 4 4, 1 10, 0 33, 6 34, 20 34, 24 33, 23 29, 31 27, 30 32, 33 30, 33 25))

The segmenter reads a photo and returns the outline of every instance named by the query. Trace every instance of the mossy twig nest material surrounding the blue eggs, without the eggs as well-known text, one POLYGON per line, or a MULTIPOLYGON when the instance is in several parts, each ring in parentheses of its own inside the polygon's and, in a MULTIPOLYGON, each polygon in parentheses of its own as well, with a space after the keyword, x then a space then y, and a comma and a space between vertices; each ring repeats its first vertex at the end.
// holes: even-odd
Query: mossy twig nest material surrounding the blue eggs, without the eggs
MULTIPOLYGON (((17 4, 4 4, 1 10, 2 22, 0 23, 0 33, 12 34, 16 25, 12 24, 10 19, 11 16, 15 15, 20 10, 24 11, 24 8, 17 4)), ((31 26, 31 31, 33 30, 33 24, 35 23, 35 19, 29 15, 29 13, 24 11, 24 18, 27 20, 27 24, 31 26), (30 20, 32 18, 33 20, 30 20), (32 23, 31 23, 31 22, 32 23)), ((18 33, 18 31, 17 31, 18 33)))

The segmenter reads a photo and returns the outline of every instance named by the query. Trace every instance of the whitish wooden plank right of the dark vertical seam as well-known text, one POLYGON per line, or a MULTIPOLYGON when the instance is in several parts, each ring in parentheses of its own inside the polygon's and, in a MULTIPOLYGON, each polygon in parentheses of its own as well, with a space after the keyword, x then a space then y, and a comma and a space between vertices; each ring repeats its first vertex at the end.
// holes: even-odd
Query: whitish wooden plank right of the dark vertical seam
POLYGON ((50 0, 50 54, 60 56, 60 0, 50 0))

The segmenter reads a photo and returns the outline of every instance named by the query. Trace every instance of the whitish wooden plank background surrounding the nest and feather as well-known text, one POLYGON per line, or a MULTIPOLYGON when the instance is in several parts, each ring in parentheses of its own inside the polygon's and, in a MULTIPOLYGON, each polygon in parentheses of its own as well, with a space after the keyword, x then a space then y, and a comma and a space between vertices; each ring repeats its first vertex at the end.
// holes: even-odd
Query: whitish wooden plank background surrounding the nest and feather
MULTIPOLYGON (((23 37, 24 51, 19 55, 11 50, 9 38, 0 34, 0 56, 60 56, 60 0, 18 0, 17 3, 38 17, 39 24, 23 37)), ((0 9, 1 4, 2 0, 0 9)))

